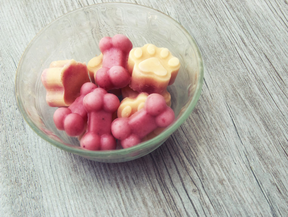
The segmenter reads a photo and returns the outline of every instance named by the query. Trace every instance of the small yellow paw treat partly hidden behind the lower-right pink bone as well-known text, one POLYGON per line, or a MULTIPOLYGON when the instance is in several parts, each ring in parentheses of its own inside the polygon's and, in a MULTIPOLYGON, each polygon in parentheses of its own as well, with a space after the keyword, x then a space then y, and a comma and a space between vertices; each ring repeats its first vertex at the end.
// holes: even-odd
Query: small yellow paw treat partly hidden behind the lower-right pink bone
POLYGON ((118 117, 130 117, 135 112, 144 107, 144 103, 149 94, 141 93, 137 97, 126 97, 121 101, 117 110, 118 117))

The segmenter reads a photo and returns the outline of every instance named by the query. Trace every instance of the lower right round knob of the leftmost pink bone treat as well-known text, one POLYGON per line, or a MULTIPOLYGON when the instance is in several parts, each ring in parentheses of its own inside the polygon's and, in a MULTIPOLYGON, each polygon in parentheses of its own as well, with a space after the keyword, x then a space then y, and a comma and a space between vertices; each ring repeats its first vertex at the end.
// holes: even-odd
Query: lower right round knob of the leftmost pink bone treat
POLYGON ((81 135, 85 129, 83 118, 77 113, 68 114, 64 120, 64 129, 69 136, 81 135))

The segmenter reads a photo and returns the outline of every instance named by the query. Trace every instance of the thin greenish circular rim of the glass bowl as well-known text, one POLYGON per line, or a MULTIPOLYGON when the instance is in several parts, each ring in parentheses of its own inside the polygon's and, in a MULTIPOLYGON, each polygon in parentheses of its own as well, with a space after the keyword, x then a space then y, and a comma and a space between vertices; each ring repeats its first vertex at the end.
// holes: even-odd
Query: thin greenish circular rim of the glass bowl
MULTIPOLYGON (((105 157, 113 155, 114 158, 118 157, 118 156, 124 156, 124 155, 129 155, 129 153, 133 153, 134 151, 137 150, 141 150, 141 149, 145 149, 146 146, 149 146, 149 144, 152 142, 153 144, 157 143, 157 142, 161 142, 164 141, 171 135, 173 134, 174 131, 176 131, 179 126, 187 119, 187 117, 191 114, 191 112, 193 111, 194 107, 196 106, 196 103, 199 99, 199 96, 201 94, 202 91, 202 85, 203 85, 203 80, 204 80, 204 66, 203 66, 203 60, 202 60, 202 55, 199 49, 198 44, 196 43, 195 39, 191 36, 191 34, 175 19, 173 19, 172 17, 168 16, 167 14, 161 12, 160 10, 157 10, 155 8, 149 7, 149 6, 145 6, 145 5, 141 5, 141 4, 135 4, 135 3, 126 3, 126 2, 106 2, 106 3, 98 3, 98 4, 91 4, 85 7, 80 7, 77 8, 75 10, 69 11, 61 16, 59 16, 57 19, 53 20, 52 22, 50 22, 49 24, 47 24, 46 26, 44 26, 44 28, 42 28, 36 35, 35 37, 30 41, 30 43, 28 44, 28 46, 26 47, 26 49, 24 50, 20 60, 19 60, 19 64, 17 66, 16 69, 16 75, 15 75, 15 96, 16 96, 16 101, 17 101, 17 105, 18 108, 24 118, 24 120, 28 123, 28 125, 41 137, 43 138, 45 141, 48 141, 49 143, 51 143, 52 145, 68 151, 70 153, 74 153, 80 156, 86 156, 86 157, 97 157, 98 159, 106 159, 105 157), (97 7, 97 6, 102 6, 102 5, 117 5, 117 4, 122 4, 122 5, 132 5, 133 7, 145 7, 146 9, 149 9, 151 11, 160 13, 162 16, 166 16, 168 19, 171 20, 171 22, 174 22, 179 28, 182 29, 182 31, 185 32, 187 39, 190 41, 191 44, 195 45, 195 52, 197 54, 198 57, 198 64, 199 64, 199 76, 198 76, 198 82, 196 84, 196 88, 195 88, 195 92, 193 95, 192 100, 190 101, 190 103, 187 105, 185 111, 183 112, 183 114, 179 117, 178 120, 174 121, 170 126, 168 126, 163 132, 161 132, 161 134, 157 135, 156 137, 149 139, 147 141, 141 142, 135 146, 129 147, 129 148, 125 148, 125 149, 117 149, 117 150, 98 150, 98 151, 92 151, 92 150, 86 150, 83 149, 81 147, 75 146, 73 147, 72 145, 67 145, 67 144, 63 144, 61 142, 58 142, 52 138, 50 138, 48 135, 46 135, 43 131, 41 131, 38 126, 36 126, 36 124, 29 118, 29 115, 26 113, 24 107, 23 107, 23 103, 21 101, 21 99, 19 98, 19 94, 17 95, 18 91, 17 91, 17 78, 19 75, 19 66, 20 63, 22 61, 23 56, 25 55, 26 51, 29 49, 29 47, 31 46, 32 42, 35 40, 35 38, 37 38, 47 27, 49 27, 50 25, 52 25, 54 22, 58 21, 59 19, 62 19, 64 16, 67 16, 70 13, 74 13, 76 11, 79 10, 84 10, 86 8, 89 7, 97 7), (189 36, 189 37, 188 37, 189 36), (161 135, 161 136, 160 136, 161 135)), ((164 143, 164 141, 162 143, 164 143)), ((159 144, 160 146, 161 144, 159 144)), ((154 150, 154 149, 152 149, 154 150)), ((151 151, 152 151, 151 150, 151 151)), ((148 154, 148 153, 147 153, 148 154)))

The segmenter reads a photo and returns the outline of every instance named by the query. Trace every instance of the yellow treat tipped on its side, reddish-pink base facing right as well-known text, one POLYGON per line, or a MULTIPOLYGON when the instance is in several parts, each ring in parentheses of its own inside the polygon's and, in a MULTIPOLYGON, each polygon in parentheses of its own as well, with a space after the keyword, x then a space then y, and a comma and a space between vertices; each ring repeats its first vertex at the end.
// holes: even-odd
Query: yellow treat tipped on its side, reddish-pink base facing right
POLYGON ((79 96, 80 88, 90 82, 85 63, 75 60, 54 61, 41 75, 46 89, 46 102, 52 107, 70 106, 79 96))

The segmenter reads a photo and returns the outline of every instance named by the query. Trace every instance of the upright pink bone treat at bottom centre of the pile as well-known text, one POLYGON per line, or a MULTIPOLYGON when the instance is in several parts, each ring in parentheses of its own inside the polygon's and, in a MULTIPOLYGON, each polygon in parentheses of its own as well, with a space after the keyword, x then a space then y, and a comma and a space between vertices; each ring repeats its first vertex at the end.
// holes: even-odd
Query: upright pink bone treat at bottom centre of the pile
POLYGON ((112 115, 119 107, 119 99, 103 88, 96 88, 83 99, 88 114, 87 132, 80 146, 88 150, 116 149, 116 140, 111 134, 112 115))

